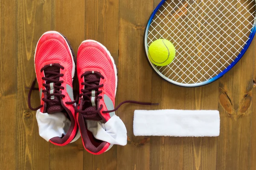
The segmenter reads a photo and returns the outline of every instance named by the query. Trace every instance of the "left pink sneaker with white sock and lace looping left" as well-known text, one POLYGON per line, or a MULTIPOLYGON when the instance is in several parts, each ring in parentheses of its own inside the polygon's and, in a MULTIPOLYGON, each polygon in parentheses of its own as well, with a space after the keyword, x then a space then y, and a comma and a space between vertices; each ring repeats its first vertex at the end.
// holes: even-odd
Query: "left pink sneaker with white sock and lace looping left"
POLYGON ((35 48, 35 73, 41 105, 37 110, 39 134, 53 144, 64 146, 76 141, 80 133, 76 122, 73 77, 75 74, 73 49, 68 40, 57 31, 48 31, 38 40, 35 48))

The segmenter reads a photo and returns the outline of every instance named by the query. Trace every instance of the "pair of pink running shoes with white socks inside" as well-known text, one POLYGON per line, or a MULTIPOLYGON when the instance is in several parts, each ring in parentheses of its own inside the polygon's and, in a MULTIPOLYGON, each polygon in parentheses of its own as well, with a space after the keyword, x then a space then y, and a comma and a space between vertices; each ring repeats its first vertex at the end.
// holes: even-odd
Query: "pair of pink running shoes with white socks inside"
MULTIPOLYGON (((79 139, 92 154, 101 154, 113 144, 125 145, 127 131, 115 111, 116 65, 111 54, 99 42, 85 40, 77 58, 64 35, 48 31, 35 48, 35 73, 41 105, 36 112, 39 135, 52 144, 64 146, 79 139), (73 97, 73 78, 79 80, 79 96, 73 97), (77 104, 78 103, 78 104, 77 104), (80 131, 80 132, 79 132, 80 131)), ((151 105, 151 103, 134 102, 151 105)))

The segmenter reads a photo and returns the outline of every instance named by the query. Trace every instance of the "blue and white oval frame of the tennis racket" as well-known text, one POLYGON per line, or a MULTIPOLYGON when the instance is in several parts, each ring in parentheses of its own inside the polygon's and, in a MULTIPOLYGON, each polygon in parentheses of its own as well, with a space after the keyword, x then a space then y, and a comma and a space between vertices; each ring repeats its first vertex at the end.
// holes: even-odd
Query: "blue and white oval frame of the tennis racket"
MULTIPOLYGON (((256 0, 255 0, 256 1, 256 0)), ((239 60, 243 57, 244 53, 247 51, 247 49, 249 48, 251 42, 253 41, 253 37, 256 33, 256 17, 254 19, 254 23, 253 23, 253 28, 251 29, 251 33, 249 35, 249 39, 246 41, 243 49, 241 50, 240 54, 236 57, 236 59, 234 59, 234 61, 227 67, 225 68, 220 74, 216 75, 215 77, 212 77, 212 79, 208 79, 207 81, 204 82, 199 82, 199 83, 193 83, 193 84, 185 84, 185 83, 180 83, 180 82, 175 82, 172 79, 169 79, 167 77, 165 77, 160 71, 158 71, 158 69, 156 68, 156 66, 149 60, 148 58, 148 29, 151 25, 151 22, 155 16, 155 14, 157 13, 157 11, 159 10, 159 8, 163 5, 163 3, 165 3, 166 0, 162 0, 157 7, 154 9, 154 11, 152 12, 152 14, 150 15, 149 19, 148 19, 148 23, 147 26, 145 28, 145 33, 144 33, 144 46, 145 46, 145 54, 146 57, 148 59, 148 62, 151 66, 151 68, 164 80, 166 80, 167 82, 170 82, 172 84, 175 85, 179 85, 179 86, 184 86, 184 87, 197 87, 197 86, 202 86, 202 85, 207 85, 211 82, 216 81, 217 79, 221 78, 224 74, 226 74, 228 71, 231 70, 231 68, 233 68, 237 62, 239 62, 239 60)), ((255 10, 256 11, 256 10, 255 10)))

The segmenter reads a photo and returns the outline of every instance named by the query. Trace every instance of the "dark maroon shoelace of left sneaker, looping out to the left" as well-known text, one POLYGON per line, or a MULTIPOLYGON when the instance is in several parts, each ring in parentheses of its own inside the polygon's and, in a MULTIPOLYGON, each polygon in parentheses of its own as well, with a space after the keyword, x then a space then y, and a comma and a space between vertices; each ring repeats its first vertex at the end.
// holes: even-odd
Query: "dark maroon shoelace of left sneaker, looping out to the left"
MULTIPOLYGON (((63 83, 63 80, 61 81, 59 80, 60 77, 64 76, 64 74, 60 74, 60 69, 64 69, 64 67, 60 64, 45 65, 43 68, 41 68, 41 72, 44 71, 44 75, 45 75, 45 77, 42 77, 42 79, 45 80, 45 83, 43 83, 43 86, 46 88, 45 90, 42 90, 42 92, 47 93, 47 96, 45 96, 42 100, 46 103, 56 103, 61 105, 60 101, 55 101, 50 98, 51 96, 58 97, 58 98, 65 97, 65 95, 61 94, 60 92, 60 90, 64 90, 64 87, 61 86, 61 83, 63 83), (51 71, 46 70, 49 67, 54 67, 56 69, 53 69, 51 71), (50 83, 53 83, 53 88, 54 88, 54 91, 52 94, 50 94, 50 83)), ((38 88, 34 88, 35 82, 36 82, 36 78, 32 82, 32 85, 29 89, 29 94, 28 94, 28 105, 32 111, 36 111, 43 107, 43 105, 40 105, 37 108, 32 108, 31 106, 30 97, 31 97, 32 90, 38 90, 38 88)), ((66 102, 66 104, 73 104, 73 103, 75 103, 75 101, 66 102)))

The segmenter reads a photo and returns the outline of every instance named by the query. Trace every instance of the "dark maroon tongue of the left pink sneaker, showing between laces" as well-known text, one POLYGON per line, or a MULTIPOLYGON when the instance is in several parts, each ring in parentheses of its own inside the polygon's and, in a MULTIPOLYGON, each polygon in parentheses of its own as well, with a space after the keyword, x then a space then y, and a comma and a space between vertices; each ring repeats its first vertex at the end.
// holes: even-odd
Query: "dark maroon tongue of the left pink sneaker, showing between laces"
MULTIPOLYGON (((52 66, 52 67, 47 67, 44 71, 56 71, 56 70, 60 70, 60 68, 58 67, 55 67, 55 66, 52 66)), ((58 72, 59 73, 59 72, 58 72)), ((47 75, 45 75, 47 76, 47 75)), ((49 78, 52 78, 54 77, 55 75, 50 75, 50 76, 47 76, 49 78)), ((56 78, 57 80, 59 80, 59 77, 56 78)), ((46 83, 49 83, 49 82, 46 82, 46 83)), ((46 88, 48 91, 49 91, 49 88, 47 87, 46 88)), ((58 96, 54 96, 54 99, 51 99, 53 101, 56 101, 56 102, 59 102, 60 104, 56 104, 56 103, 52 103, 52 102, 48 102, 47 103, 47 108, 46 108, 46 112, 47 113, 55 113, 55 112, 60 112, 60 111, 63 111, 64 108, 63 106, 61 105, 61 99, 60 97, 58 96)))

